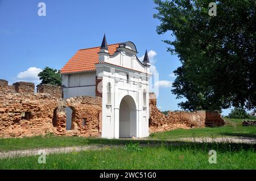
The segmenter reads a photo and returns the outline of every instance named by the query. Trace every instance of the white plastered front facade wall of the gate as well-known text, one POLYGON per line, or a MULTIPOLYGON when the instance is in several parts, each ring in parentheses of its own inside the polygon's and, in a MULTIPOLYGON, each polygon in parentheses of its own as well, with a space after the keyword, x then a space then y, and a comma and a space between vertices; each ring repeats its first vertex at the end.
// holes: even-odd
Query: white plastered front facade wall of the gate
MULTIPOLYGON (((106 62, 121 62, 122 58, 121 52, 116 54, 113 57, 109 57, 106 62), (119 58, 119 60, 118 60, 119 58)), ((131 58, 125 57, 125 58, 131 58)), ((124 59, 125 59, 124 58, 124 59)), ((131 59, 130 59, 131 60, 131 59)), ((147 68, 144 68, 142 65, 137 65, 136 58, 133 59, 130 66, 133 65, 134 69, 142 69, 144 73, 140 71, 134 71, 119 68, 115 65, 110 64, 97 64, 96 70, 97 74, 102 76, 102 137, 104 138, 119 138, 119 137, 147 137, 148 136, 148 118, 149 118, 149 102, 148 102, 148 79, 149 76, 146 74, 147 68), (127 74, 129 74, 129 81, 127 82, 127 74), (107 96, 107 85, 110 82, 111 85, 111 102, 108 103, 107 96), (143 90, 146 91, 146 105, 143 105, 143 90), (120 103, 122 98, 126 95, 129 95, 134 103, 135 110, 130 111, 130 120, 135 120, 134 124, 130 125, 127 123, 121 123, 123 120, 119 120, 120 103), (121 125, 120 125, 121 124, 121 125), (123 133, 123 135, 119 135, 120 130, 124 129, 123 127, 127 127, 127 132, 123 133), (135 135, 134 135, 135 134, 135 135)), ((129 64, 126 64, 129 66, 129 64)), ((124 111, 126 114, 129 111, 124 111)), ((123 113, 123 112, 121 112, 123 113)), ((128 116, 127 116, 128 117, 128 116)), ((127 122, 127 120, 124 120, 127 122)))

